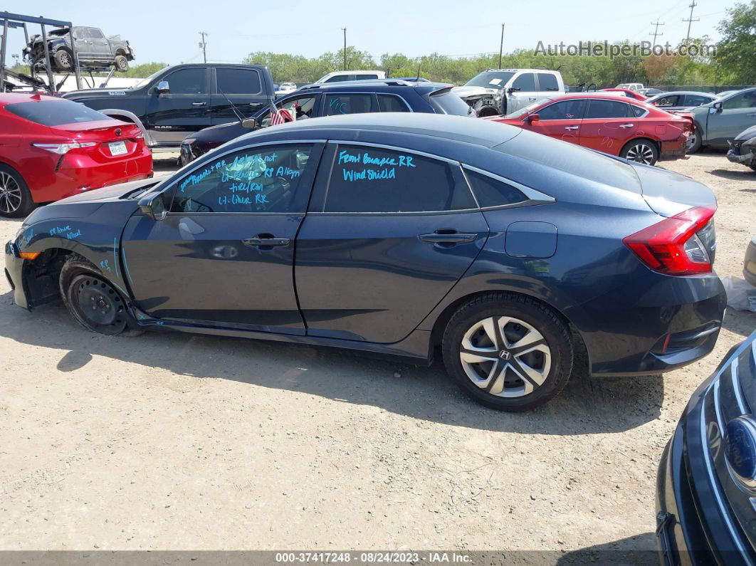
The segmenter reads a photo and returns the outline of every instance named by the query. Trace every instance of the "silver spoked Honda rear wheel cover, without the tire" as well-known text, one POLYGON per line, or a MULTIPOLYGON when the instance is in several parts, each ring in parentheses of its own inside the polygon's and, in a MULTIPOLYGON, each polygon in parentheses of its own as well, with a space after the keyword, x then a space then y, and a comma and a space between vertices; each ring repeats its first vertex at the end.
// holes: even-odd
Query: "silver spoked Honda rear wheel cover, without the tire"
POLYGON ((467 377, 497 397, 523 397, 544 384, 551 350, 541 332, 514 317, 488 317, 473 324, 460 344, 467 377))

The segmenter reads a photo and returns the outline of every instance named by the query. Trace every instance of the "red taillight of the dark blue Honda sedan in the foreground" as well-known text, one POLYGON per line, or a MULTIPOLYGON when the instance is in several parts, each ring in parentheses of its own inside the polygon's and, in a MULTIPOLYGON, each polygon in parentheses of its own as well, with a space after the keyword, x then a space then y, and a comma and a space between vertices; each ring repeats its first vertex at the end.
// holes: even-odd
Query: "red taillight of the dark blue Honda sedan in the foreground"
POLYGON ((716 211, 696 206, 643 228, 622 242, 654 271, 667 275, 711 273, 716 211))

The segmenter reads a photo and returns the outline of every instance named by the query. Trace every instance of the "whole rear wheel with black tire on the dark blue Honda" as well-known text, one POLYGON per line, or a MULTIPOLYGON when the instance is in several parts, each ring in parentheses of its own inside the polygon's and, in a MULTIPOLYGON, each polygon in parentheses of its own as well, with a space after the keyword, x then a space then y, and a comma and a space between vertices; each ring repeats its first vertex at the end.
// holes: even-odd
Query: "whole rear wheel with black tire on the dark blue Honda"
MULTIPOLYGON (((487 336, 487 333, 483 332, 482 340, 486 340, 487 336)), ((487 346, 472 346, 487 348, 487 346)), ((533 298, 507 292, 489 292, 463 304, 446 326, 442 351, 448 375, 462 391, 487 407, 504 411, 530 410, 559 394, 572 373, 574 357, 569 328, 555 311, 533 298), (515 321, 507 322, 503 317, 515 319, 515 321), (479 364, 466 363, 463 366, 462 357, 469 352, 464 348, 465 344, 472 345, 473 341, 479 340, 477 332, 473 332, 472 335, 470 333, 476 329, 476 326, 487 320, 494 320, 492 323, 494 328, 500 328, 500 324, 503 324, 503 327, 496 332, 497 342, 500 344, 491 345, 493 351, 487 354, 491 357, 490 361, 479 364), (525 326, 525 334, 519 335, 518 332, 523 329, 521 325, 525 326), (531 336, 531 339, 538 340, 528 342, 525 336, 528 336, 532 330, 536 333, 531 336), (516 344, 521 340, 528 344, 517 347, 516 344), (531 351, 544 347, 546 353, 531 351), (527 356, 530 358, 525 359, 527 356), (533 367, 539 365, 539 356, 541 357, 541 378, 533 380, 525 377, 533 374, 525 373, 524 368, 532 371, 533 367), (533 359, 536 360, 535 363, 530 361, 533 359), (506 361, 502 362, 502 360, 506 361), (488 363, 491 365, 487 365, 488 363), (474 373, 471 376, 467 371, 480 373, 474 373), (489 376, 488 386, 484 387, 487 380, 483 376, 486 373, 489 376), (473 382, 473 379, 476 382, 473 382), (538 380, 541 381, 540 385, 537 383, 538 380), (500 385, 500 390, 497 394, 489 392, 489 390, 498 389, 498 385, 500 385), (512 396, 503 397, 504 394, 512 396)))

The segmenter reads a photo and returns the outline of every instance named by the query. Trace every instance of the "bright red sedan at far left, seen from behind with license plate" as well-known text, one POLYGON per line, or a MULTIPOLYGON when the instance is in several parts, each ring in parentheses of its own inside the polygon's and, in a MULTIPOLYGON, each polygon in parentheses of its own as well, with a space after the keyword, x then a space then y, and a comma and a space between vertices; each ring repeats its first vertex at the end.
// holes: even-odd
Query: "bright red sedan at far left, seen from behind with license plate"
POLYGON ((151 175, 137 125, 62 98, 0 94, 0 215, 151 175))

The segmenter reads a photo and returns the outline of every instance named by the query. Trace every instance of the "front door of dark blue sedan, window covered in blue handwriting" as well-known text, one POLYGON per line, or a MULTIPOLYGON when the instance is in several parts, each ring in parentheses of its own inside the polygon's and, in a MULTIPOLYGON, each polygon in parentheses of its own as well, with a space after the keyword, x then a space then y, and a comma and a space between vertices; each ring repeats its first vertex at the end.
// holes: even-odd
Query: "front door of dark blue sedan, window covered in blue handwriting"
POLYGON ((294 240, 322 147, 216 155, 164 193, 165 219, 134 215, 122 249, 138 308, 178 323, 304 334, 294 240))

